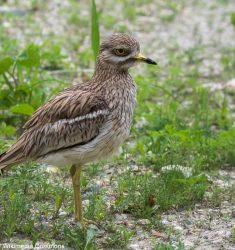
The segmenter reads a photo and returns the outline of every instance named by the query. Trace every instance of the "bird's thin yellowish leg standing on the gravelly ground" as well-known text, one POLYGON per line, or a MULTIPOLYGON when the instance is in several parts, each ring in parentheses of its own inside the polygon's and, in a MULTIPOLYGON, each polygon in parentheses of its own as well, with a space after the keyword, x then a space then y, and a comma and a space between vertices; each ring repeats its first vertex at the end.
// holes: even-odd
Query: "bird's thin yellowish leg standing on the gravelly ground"
POLYGON ((81 166, 72 165, 70 169, 70 174, 73 182, 73 190, 74 190, 74 203, 75 203, 75 220, 79 221, 82 225, 83 217, 82 217, 82 197, 81 197, 81 166))

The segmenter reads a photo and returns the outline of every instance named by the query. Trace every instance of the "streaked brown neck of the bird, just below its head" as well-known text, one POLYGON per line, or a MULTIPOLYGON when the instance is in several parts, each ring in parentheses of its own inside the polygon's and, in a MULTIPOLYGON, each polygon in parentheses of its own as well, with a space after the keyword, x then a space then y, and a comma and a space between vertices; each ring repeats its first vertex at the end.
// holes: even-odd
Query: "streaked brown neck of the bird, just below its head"
POLYGON ((116 76, 127 77, 128 69, 122 69, 112 65, 108 65, 107 63, 103 63, 102 60, 100 60, 98 57, 95 73, 92 78, 99 81, 105 81, 116 76))

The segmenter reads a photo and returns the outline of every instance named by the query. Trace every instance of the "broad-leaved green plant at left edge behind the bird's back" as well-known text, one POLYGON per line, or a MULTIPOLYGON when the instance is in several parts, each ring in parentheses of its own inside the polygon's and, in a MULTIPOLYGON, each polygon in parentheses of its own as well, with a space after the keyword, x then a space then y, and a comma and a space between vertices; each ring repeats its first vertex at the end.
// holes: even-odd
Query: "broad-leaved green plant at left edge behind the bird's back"
POLYGON ((42 53, 38 45, 30 44, 18 56, 0 60, 0 131, 3 134, 14 134, 16 124, 22 125, 45 100, 48 88, 45 84, 56 80, 42 79, 40 65, 58 59, 53 59, 52 54, 42 53))

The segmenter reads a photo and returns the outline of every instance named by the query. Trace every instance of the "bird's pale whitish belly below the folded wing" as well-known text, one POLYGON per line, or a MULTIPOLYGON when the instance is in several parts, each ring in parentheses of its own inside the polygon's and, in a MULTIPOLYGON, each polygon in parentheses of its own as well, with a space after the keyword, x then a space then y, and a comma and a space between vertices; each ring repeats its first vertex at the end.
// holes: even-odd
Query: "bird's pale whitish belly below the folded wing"
POLYGON ((112 122, 108 122, 91 142, 48 154, 39 161, 55 166, 66 166, 84 165, 88 162, 108 158, 119 151, 119 147, 129 136, 129 132, 130 126, 114 128, 112 122))

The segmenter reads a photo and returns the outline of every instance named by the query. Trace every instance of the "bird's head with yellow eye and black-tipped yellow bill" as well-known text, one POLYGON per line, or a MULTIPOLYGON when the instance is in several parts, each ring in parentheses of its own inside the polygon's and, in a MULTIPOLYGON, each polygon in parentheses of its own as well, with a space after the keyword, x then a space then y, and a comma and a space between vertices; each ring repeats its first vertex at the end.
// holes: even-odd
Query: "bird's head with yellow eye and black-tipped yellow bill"
POLYGON ((157 63, 140 54, 140 45, 132 36, 114 33, 100 45, 98 60, 103 67, 128 69, 139 62, 157 63))

